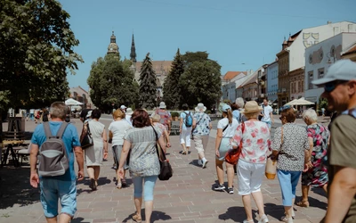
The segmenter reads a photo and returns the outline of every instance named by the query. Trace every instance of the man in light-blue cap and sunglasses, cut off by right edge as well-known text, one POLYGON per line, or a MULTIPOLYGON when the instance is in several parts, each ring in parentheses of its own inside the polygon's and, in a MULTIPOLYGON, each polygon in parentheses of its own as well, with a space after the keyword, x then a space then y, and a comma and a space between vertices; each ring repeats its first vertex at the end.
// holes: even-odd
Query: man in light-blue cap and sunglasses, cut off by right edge
POLYGON ((328 210, 323 223, 356 222, 356 62, 340 60, 324 78, 312 84, 324 87, 328 111, 339 114, 331 127, 328 148, 328 210))

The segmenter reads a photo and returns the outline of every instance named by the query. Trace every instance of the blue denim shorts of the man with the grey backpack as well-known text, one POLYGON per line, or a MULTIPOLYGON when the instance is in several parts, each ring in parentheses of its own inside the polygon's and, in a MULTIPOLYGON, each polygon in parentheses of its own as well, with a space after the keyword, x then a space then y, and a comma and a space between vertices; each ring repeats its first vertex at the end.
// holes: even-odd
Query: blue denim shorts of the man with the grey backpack
POLYGON ((58 215, 58 200, 61 202, 61 213, 72 218, 77 211, 77 185, 76 180, 63 181, 53 178, 40 180, 41 203, 46 218, 58 215))

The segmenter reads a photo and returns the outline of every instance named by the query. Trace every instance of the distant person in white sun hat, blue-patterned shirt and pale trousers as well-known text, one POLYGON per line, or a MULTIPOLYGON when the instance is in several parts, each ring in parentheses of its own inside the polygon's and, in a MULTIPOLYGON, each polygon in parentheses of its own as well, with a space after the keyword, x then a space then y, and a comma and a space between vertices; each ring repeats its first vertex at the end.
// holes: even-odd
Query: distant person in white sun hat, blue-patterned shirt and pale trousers
POLYGON ((192 135, 194 139, 194 147, 198 152, 198 165, 202 168, 206 168, 206 155, 204 151, 206 150, 207 143, 209 141, 209 134, 213 125, 211 123, 210 117, 204 112, 206 111, 206 106, 204 103, 198 103, 195 107, 197 111, 193 116, 193 129, 192 135))

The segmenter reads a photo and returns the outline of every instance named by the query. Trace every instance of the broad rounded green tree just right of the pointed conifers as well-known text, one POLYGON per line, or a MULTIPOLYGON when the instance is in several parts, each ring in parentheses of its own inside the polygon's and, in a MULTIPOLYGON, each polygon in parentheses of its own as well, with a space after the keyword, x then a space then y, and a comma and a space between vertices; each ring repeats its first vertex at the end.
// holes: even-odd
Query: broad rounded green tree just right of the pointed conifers
POLYGON ((180 79, 182 98, 190 106, 204 103, 211 108, 221 97, 220 69, 214 62, 192 62, 180 79))

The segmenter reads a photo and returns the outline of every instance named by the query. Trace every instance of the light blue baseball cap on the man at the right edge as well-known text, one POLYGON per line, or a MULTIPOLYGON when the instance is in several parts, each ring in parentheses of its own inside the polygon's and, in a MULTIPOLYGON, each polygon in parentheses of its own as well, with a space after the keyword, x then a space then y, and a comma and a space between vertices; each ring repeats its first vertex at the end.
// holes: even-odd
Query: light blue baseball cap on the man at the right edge
POLYGON ((313 80, 312 84, 320 86, 335 80, 352 79, 356 79, 356 62, 352 62, 350 60, 340 60, 330 66, 324 78, 313 80))

